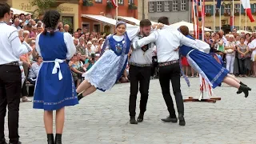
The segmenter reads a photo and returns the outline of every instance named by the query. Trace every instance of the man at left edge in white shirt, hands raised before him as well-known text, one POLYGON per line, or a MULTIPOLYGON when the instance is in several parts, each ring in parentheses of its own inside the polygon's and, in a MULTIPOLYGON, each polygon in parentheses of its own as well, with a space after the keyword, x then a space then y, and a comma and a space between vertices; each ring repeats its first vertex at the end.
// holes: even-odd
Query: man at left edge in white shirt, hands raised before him
POLYGON ((8 106, 8 128, 10 144, 21 144, 18 141, 18 111, 22 90, 22 74, 19 69, 19 57, 32 49, 28 37, 21 43, 18 30, 8 26, 10 22, 10 6, 0 3, 0 143, 5 140, 5 116, 8 106))

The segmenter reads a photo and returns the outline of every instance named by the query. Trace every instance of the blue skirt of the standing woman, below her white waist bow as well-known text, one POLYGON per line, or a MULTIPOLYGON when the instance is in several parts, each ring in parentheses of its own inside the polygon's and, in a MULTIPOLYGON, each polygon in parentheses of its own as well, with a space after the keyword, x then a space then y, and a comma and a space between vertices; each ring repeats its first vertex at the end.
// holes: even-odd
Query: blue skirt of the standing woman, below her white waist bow
POLYGON ((34 109, 58 110, 64 106, 78 104, 72 74, 66 62, 60 63, 62 79, 52 74, 54 62, 42 63, 39 70, 35 90, 34 109))

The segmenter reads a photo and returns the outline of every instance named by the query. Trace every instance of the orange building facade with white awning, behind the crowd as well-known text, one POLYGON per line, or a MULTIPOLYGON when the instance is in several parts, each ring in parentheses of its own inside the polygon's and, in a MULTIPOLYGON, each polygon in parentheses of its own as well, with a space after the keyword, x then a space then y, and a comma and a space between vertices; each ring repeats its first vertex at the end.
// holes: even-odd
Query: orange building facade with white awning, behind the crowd
MULTIPOLYGON (((138 0, 118 0, 118 16, 138 18, 138 0)), ((80 0, 78 7, 79 27, 88 31, 113 33, 116 18, 110 0, 80 0)))

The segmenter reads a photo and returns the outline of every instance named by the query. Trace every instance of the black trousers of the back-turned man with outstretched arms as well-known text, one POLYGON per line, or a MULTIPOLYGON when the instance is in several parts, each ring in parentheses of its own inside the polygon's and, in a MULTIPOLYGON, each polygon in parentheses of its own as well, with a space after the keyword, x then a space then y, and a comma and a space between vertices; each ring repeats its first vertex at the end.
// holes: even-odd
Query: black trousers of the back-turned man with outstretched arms
POLYGON ((180 81, 180 67, 179 63, 174 63, 170 66, 159 67, 159 81, 162 88, 162 95, 165 99, 166 106, 170 113, 171 118, 176 118, 174 110, 174 102, 170 96, 170 81, 173 87, 178 114, 184 115, 184 104, 181 92, 181 81, 180 81))

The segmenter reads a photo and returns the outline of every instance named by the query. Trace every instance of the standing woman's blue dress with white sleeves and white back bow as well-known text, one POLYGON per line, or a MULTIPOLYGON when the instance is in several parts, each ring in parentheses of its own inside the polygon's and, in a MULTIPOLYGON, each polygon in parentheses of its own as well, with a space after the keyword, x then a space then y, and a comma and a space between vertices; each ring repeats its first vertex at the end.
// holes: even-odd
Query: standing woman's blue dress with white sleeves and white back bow
POLYGON ((38 34, 36 50, 43 62, 34 90, 34 109, 58 110, 78 104, 74 81, 66 59, 75 53, 72 36, 55 32, 38 34))

